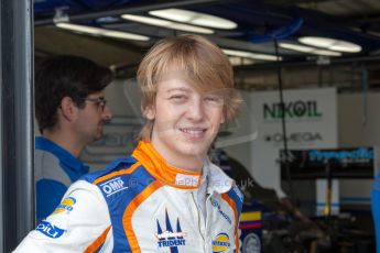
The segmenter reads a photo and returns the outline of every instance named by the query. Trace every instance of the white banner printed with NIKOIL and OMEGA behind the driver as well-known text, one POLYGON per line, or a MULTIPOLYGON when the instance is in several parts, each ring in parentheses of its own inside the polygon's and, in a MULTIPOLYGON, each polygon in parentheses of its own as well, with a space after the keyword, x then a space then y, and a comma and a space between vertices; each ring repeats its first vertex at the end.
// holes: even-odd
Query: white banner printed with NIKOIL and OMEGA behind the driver
POLYGON ((289 148, 335 148, 337 95, 335 88, 284 90, 284 111, 279 91, 253 92, 251 110, 258 138, 252 143, 251 174, 263 187, 284 197, 280 182, 279 153, 284 148, 282 116, 285 116, 289 148))

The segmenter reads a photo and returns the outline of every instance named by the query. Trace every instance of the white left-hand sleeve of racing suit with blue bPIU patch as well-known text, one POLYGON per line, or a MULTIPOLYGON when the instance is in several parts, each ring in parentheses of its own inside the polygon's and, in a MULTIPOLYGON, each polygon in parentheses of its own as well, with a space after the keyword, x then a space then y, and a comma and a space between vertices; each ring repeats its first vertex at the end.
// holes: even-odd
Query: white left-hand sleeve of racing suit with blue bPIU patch
MULTIPOLYGON (((84 252, 101 234, 107 239, 111 237, 110 224, 108 206, 100 190, 78 180, 67 189, 55 211, 31 231, 14 252, 84 252)), ((112 240, 108 241, 110 246, 112 240)))

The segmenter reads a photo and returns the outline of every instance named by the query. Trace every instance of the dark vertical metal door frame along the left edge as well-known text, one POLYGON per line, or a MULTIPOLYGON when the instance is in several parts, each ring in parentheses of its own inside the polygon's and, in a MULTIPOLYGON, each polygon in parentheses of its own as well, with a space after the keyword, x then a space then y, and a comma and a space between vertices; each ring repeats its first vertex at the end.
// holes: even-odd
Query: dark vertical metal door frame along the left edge
POLYGON ((0 2, 0 251, 34 227, 33 1, 0 2))

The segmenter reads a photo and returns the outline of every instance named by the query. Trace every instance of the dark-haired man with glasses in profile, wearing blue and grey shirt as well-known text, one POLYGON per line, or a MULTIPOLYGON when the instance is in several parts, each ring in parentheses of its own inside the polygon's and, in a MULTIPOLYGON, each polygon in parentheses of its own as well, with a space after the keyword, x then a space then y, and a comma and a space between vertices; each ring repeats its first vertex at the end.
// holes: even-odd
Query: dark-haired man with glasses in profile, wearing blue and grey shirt
POLYGON ((70 55, 45 59, 35 73, 35 116, 42 136, 35 140, 36 219, 59 204, 67 187, 88 166, 79 160, 84 147, 101 138, 112 114, 104 89, 110 69, 70 55))

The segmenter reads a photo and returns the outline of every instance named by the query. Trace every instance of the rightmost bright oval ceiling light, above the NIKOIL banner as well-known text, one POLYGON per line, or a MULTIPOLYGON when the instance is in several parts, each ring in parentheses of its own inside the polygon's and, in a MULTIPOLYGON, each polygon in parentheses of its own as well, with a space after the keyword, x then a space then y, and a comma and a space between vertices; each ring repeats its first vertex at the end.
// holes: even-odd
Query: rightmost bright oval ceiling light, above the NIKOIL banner
POLYGON ((358 53, 361 51, 361 46, 347 42, 329 37, 315 37, 305 36, 300 37, 298 41, 303 44, 311 46, 318 46, 330 51, 347 52, 347 53, 358 53))

